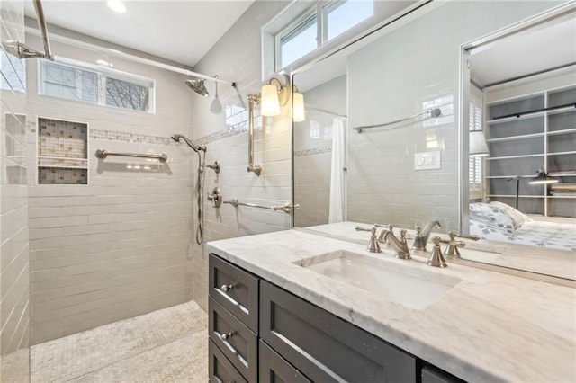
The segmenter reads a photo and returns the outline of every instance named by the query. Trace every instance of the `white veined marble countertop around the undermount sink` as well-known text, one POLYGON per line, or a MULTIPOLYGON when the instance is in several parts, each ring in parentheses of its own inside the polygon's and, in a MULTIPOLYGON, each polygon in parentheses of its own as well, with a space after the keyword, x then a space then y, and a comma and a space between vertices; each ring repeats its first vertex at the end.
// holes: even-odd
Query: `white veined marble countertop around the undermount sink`
MULTIPOLYGON (((366 234, 366 233, 365 233, 366 234)), ((446 269, 365 252, 365 245, 286 230, 207 244, 211 253, 468 381, 576 381, 576 290, 459 264, 446 269), (347 250, 461 279, 423 309, 301 265, 347 250)))

